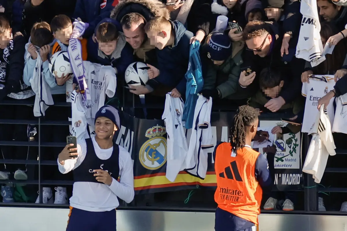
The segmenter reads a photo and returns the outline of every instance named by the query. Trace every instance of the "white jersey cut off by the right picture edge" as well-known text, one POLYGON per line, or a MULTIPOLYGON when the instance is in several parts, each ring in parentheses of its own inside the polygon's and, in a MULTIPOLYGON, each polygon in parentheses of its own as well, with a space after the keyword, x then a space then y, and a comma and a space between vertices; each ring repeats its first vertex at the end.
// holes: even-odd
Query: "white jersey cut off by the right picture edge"
POLYGON ((347 94, 336 98, 336 110, 332 132, 347 134, 347 94))

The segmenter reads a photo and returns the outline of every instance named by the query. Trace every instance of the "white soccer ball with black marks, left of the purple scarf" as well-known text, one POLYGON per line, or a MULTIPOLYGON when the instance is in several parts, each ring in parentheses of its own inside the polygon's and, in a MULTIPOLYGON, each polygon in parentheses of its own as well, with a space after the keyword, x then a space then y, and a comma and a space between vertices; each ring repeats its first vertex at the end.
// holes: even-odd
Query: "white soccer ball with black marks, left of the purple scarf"
POLYGON ((53 76, 58 76, 61 78, 61 75, 64 74, 73 74, 73 70, 70 64, 70 59, 67 51, 58 51, 52 55, 49 60, 49 70, 53 76))

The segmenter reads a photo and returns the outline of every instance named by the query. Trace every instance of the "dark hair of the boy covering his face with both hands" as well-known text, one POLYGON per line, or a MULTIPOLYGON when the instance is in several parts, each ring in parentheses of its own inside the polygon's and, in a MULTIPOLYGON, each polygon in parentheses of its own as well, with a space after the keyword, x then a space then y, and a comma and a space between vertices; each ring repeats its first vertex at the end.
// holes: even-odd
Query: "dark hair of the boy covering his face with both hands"
POLYGON ((35 23, 31 28, 31 43, 38 47, 50 44, 54 37, 51 27, 46 22, 35 23))

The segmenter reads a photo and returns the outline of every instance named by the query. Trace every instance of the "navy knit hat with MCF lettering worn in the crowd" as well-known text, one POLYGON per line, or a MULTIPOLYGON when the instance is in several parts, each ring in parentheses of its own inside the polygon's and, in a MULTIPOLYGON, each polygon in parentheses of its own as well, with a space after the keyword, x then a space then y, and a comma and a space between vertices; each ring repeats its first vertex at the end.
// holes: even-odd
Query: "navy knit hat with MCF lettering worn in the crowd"
POLYGON ((209 59, 215 61, 228 59, 232 51, 229 36, 222 32, 212 32, 212 35, 206 39, 205 51, 209 59))

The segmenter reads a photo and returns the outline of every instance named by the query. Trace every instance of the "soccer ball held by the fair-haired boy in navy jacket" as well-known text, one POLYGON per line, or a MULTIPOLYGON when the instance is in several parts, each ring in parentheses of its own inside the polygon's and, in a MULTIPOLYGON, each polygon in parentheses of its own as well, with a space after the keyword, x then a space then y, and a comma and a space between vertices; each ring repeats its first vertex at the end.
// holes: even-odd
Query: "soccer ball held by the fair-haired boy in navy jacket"
POLYGON ((125 71, 125 83, 133 86, 146 85, 148 81, 148 69, 150 68, 141 62, 130 64, 125 71))

